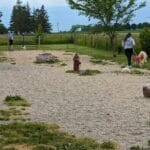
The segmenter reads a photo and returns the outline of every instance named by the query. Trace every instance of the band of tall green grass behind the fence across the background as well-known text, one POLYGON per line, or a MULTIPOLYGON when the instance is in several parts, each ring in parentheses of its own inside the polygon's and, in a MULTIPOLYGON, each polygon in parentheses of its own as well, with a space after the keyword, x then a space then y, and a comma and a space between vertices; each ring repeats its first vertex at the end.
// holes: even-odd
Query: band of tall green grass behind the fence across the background
MULTIPOLYGON (((121 48, 121 41, 125 36, 125 32, 119 32, 115 39, 116 51, 121 48)), ((133 33, 136 40, 136 49, 141 49, 139 42, 139 33, 133 33)), ((1 35, 0 46, 7 45, 7 35, 1 35)), ((25 45, 37 45, 37 38, 35 35, 24 36, 25 45)), ((41 37, 41 44, 76 44, 87 46, 91 48, 98 48, 104 50, 111 50, 109 38, 107 35, 101 34, 88 34, 88 33, 53 33, 45 34, 41 37)), ((14 36, 14 45, 23 45, 23 37, 21 35, 14 36)))

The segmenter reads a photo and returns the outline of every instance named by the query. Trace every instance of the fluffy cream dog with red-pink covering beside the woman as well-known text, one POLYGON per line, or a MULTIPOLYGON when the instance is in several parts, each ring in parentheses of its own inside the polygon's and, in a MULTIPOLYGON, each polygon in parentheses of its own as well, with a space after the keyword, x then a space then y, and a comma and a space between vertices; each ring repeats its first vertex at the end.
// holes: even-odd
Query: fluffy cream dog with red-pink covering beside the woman
POLYGON ((141 51, 138 55, 135 55, 133 57, 133 60, 139 64, 140 66, 143 66, 144 63, 147 62, 147 54, 144 51, 141 51))

